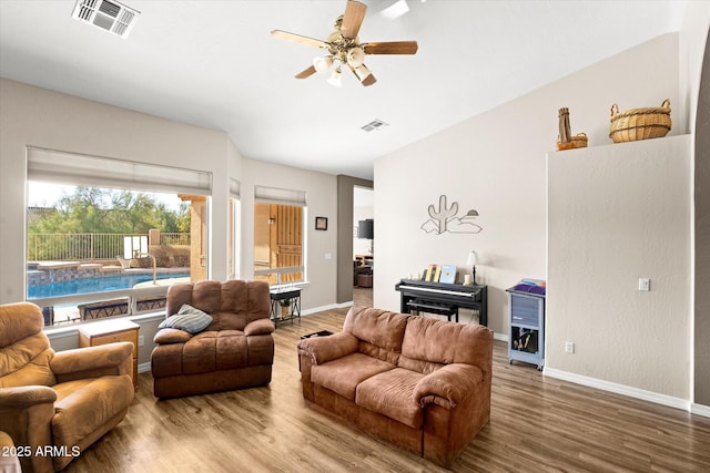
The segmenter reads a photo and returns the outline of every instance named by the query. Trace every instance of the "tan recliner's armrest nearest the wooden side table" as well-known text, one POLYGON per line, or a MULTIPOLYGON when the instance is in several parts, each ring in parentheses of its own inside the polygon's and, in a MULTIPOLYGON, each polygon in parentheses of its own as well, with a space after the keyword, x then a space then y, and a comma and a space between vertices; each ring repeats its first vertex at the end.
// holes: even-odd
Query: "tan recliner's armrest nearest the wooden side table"
POLYGON ((58 351, 50 361, 58 382, 133 372, 133 343, 119 341, 98 347, 58 351))

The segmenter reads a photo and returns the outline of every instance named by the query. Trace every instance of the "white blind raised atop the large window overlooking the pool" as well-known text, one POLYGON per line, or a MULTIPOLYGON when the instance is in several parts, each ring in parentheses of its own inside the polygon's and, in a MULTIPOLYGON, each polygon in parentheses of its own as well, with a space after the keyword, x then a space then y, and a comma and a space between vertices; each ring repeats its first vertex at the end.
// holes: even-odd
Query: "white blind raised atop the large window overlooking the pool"
POLYGON ((145 192, 212 193, 209 172, 33 147, 28 148, 28 179, 145 192))

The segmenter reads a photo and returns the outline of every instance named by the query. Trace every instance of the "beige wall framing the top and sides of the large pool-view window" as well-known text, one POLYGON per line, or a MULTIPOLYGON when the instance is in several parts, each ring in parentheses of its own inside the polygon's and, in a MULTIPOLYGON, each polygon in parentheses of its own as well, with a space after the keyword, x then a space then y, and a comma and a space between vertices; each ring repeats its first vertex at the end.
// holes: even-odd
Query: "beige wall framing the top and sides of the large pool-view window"
MULTIPOLYGON (((223 132, 0 80, 0 302, 24 298, 27 146, 206 171, 212 213, 226 213, 230 142, 223 132)), ((215 219, 212 276, 226 275, 226 219, 215 219)))

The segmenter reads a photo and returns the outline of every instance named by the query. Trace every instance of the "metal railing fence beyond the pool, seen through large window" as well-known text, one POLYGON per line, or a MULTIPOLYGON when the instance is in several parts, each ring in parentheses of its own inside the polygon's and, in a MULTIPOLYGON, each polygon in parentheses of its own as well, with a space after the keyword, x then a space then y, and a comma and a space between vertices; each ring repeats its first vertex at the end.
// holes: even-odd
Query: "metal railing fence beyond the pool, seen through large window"
MULTIPOLYGON (((85 261, 123 255, 124 237, 132 234, 28 234, 28 261, 85 261)), ((190 245, 190 234, 161 233, 160 244, 190 245)))

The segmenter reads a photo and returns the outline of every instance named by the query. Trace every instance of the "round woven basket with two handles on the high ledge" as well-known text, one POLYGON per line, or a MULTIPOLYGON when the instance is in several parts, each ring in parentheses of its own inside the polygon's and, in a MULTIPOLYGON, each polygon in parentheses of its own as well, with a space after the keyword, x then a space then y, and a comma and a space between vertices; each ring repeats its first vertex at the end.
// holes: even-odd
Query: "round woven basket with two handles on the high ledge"
POLYGON ((659 138, 670 131, 670 101, 666 99, 660 107, 631 109, 619 112, 619 105, 611 105, 609 137, 615 143, 637 140, 659 138))

